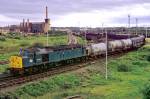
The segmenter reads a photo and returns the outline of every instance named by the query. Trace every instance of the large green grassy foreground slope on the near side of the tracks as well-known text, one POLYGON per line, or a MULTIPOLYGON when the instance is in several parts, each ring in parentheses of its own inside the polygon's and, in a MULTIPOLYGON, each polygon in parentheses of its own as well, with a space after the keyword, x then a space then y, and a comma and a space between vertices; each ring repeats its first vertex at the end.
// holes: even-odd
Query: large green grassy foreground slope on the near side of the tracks
POLYGON ((72 95, 81 95, 85 99, 142 99, 142 89, 150 81, 149 51, 147 43, 137 51, 109 60, 108 80, 99 70, 104 65, 96 62, 83 71, 56 75, 9 94, 20 99, 63 99, 72 95), (122 64, 130 71, 119 71, 118 66, 122 64))

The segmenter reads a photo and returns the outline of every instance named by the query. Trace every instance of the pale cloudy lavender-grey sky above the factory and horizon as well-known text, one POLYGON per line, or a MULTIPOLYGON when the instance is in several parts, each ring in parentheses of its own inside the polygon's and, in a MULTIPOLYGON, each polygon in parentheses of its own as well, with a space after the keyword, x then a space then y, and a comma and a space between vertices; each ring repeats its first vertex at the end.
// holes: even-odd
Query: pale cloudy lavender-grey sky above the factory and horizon
POLYGON ((0 0, 0 26, 45 19, 48 6, 51 26, 101 27, 150 25, 150 0, 0 0))

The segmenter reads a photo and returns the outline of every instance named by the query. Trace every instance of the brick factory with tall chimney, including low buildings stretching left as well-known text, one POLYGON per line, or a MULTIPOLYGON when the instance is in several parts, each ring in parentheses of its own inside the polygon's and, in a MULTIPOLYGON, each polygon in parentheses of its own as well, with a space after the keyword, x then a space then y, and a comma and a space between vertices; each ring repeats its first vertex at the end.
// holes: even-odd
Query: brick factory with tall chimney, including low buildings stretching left
MULTIPOLYGON (((36 33, 43 34, 50 30, 50 19, 48 18, 48 7, 46 6, 46 18, 43 22, 30 22, 29 19, 20 23, 20 25, 11 25, 7 27, 7 32, 20 32, 20 33, 36 33)), ((6 27, 1 28, 1 32, 6 30, 6 27)))

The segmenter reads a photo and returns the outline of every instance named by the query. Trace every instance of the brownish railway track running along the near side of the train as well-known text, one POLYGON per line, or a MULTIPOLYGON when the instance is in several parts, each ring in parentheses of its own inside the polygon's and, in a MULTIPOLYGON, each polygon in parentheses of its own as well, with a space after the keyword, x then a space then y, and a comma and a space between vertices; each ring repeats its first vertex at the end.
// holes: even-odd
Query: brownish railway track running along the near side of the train
MULTIPOLYGON (((124 53, 114 53, 114 54, 110 54, 108 56, 108 58, 110 57, 119 57, 119 56, 122 56, 124 55, 124 53)), ((13 87, 13 86, 17 86, 17 85, 21 85, 21 84, 24 84, 24 83, 27 83, 27 82, 31 82, 31 81, 37 81, 37 80, 40 80, 42 78, 45 78, 45 77, 48 77, 48 76, 52 76, 52 75, 56 75, 56 74, 60 74, 60 73, 63 73, 63 72, 67 72, 67 71, 73 71, 73 70, 77 70, 77 69, 80 69, 82 67, 85 67, 87 64, 94 64, 93 61, 97 61, 99 58, 97 59, 91 59, 90 61, 88 60, 88 62, 83 62, 83 63, 80 63, 78 65, 69 65, 69 66, 62 66, 61 68, 60 67, 57 67, 57 68, 52 68, 50 69, 49 71, 47 72, 43 72, 43 73, 39 73, 39 74, 34 74, 34 75, 29 75, 29 76, 24 76, 24 77, 12 77, 12 76, 6 76, 4 78, 0 78, 0 91, 4 88, 8 88, 8 87, 13 87)), ((101 58, 101 60, 105 60, 105 58, 101 58)), ((104 63, 102 63, 104 64, 104 63)))

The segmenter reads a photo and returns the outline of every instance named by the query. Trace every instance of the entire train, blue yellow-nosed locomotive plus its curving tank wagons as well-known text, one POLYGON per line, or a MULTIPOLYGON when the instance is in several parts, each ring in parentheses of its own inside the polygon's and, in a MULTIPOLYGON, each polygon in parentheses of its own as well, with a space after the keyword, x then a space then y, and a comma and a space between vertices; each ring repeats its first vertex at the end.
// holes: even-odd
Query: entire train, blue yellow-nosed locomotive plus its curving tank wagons
POLYGON ((62 45, 50 47, 34 47, 23 50, 18 56, 11 56, 9 70, 12 74, 32 74, 51 69, 56 66, 87 61, 91 57, 109 53, 126 51, 141 47, 144 36, 133 37, 89 45, 62 45), (106 46, 107 45, 107 46, 106 46))

